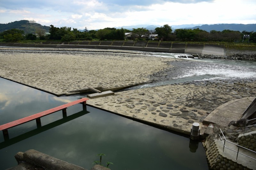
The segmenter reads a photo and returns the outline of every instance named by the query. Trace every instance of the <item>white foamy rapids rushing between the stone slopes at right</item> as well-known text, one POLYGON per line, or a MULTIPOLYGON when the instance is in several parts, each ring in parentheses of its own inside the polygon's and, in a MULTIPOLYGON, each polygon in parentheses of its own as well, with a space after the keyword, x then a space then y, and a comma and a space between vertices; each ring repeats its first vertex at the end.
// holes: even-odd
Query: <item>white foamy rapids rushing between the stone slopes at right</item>
MULTIPOLYGON (((154 54, 158 57, 177 58, 179 55, 189 54, 154 54)), ((175 63, 174 66, 178 70, 178 75, 172 79, 188 78, 192 81, 205 80, 228 80, 228 79, 254 79, 256 78, 256 61, 233 61, 218 59, 191 59, 181 63, 175 63)), ((171 63, 173 65, 173 63, 171 63)))

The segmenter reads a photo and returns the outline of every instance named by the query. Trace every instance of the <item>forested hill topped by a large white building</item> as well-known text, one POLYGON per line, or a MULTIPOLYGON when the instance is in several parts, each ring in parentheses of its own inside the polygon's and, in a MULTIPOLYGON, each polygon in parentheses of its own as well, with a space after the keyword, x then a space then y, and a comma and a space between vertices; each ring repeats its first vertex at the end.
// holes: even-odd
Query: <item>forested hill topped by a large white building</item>
POLYGON ((42 26, 41 24, 37 23, 29 23, 28 20, 20 20, 10 22, 8 24, 0 24, 0 33, 10 29, 23 30, 24 33, 36 33, 36 29, 38 28, 43 29, 44 32, 49 31, 49 26, 42 26))

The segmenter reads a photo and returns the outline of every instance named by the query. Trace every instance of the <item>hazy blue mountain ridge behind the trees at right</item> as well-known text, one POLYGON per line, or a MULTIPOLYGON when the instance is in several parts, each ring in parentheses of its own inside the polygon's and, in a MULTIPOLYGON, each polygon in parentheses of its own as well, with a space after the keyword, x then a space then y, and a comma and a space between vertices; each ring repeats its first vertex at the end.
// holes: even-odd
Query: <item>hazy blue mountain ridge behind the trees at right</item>
POLYGON ((212 30, 215 31, 223 31, 223 30, 232 30, 232 31, 247 31, 247 32, 256 32, 256 24, 213 24, 213 25, 202 25, 202 26, 195 26, 193 28, 186 28, 186 29, 196 29, 199 28, 200 30, 205 30, 210 32, 212 30))

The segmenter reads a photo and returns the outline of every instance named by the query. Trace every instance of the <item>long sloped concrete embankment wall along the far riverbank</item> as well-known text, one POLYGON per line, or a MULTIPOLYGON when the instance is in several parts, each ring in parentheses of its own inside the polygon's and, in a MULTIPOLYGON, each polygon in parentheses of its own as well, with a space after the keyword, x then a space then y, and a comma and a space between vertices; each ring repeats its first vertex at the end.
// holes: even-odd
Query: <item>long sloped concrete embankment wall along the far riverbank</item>
POLYGON ((0 43, 0 46, 40 48, 96 48, 123 49, 163 53, 197 53, 225 55, 225 48, 217 45, 183 44, 170 42, 140 41, 85 41, 85 42, 38 42, 35 44, 0 43))

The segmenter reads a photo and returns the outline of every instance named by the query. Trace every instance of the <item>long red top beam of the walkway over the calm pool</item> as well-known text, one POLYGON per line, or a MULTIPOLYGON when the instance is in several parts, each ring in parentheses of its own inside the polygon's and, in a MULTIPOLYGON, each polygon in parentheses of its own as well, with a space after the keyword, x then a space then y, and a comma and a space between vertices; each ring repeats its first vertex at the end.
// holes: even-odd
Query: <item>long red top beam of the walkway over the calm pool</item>
POLYGON ((69 106, 73 106, 73 105, 75 105, 77 103, 84 103, 84 102, 86 102, 86 100, 89 100, 89 99, 82 98, 82 99, 79 99, 79 100, 76 100, 76 101, 72 101, 70 103, 67 103, 67 104, 64 104, 64 105, 61 105, 61 106, 58 106, 58 107, 54 107, 54 108, 49 109, 49 110, 45 110, 45 111, 40 112, 40 113, 36 113, 34 115, 30 115, 28 117, 21 118, 21 119, 16 120, 16 121, 12 121, 12 122, 3 124, 3 125, 0 126, 0 130, 9 129, 9 128, 18 126, 20 124, 26 123, 26 122, 30 122, 30 121, 38 119, 40 117, 43 117, 43 116, 55 113, 57 111, 60 111, 62 109, 65 109, 65 108, 67 108, 69 106))

